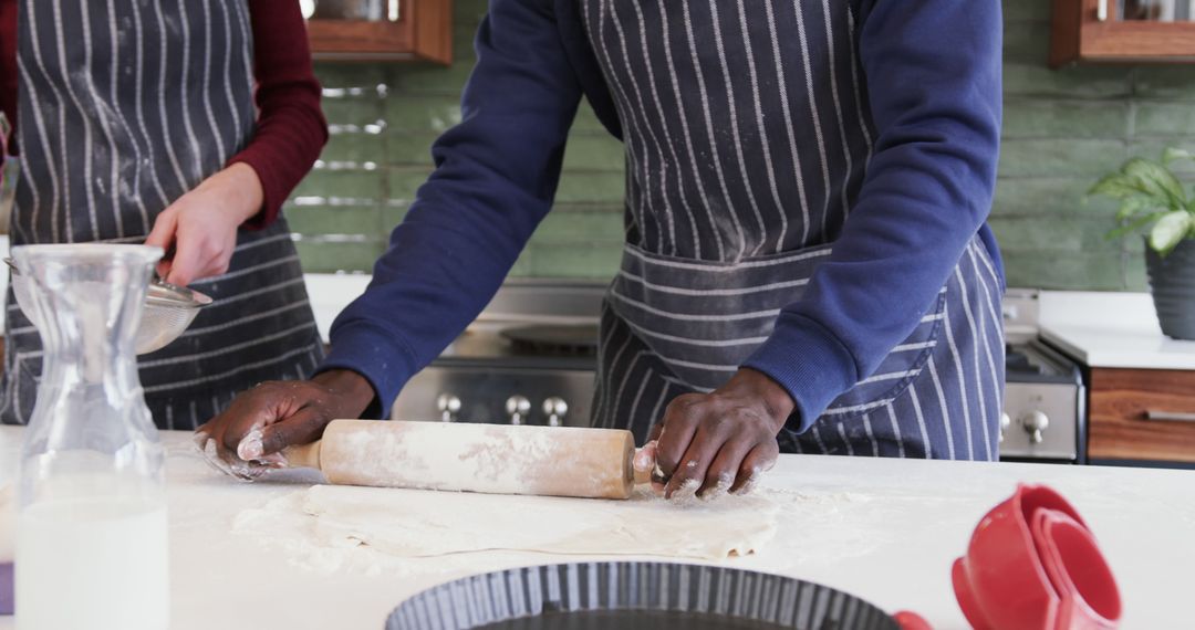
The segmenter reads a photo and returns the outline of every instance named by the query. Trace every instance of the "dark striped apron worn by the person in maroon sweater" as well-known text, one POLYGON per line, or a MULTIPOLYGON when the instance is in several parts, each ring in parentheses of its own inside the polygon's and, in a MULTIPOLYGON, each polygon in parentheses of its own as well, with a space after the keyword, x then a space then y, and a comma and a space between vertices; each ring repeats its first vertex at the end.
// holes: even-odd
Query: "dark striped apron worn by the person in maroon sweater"
MULTIPOLYGON (((141 242, 174 199, 253 134, 246 0, 22 0, 22 179, 13 245, 141 242)), ((306 377, 323 357, 286 221, 241 229, 215 302, 139 358, 154 421, 190 430, 253 384, 306 377)), ((24 424, 41 341, 10 291, 0 421, 24 424)))

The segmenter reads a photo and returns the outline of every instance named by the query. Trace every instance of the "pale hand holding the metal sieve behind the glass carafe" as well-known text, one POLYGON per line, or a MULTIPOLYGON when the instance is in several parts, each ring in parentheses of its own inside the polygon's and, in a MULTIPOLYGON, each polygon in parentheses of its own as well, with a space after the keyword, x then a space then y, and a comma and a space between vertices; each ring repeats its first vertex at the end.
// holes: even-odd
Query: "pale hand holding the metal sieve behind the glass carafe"
POLYGON ((262 180, 238 162, 183 194, 154 221, 146 245, 173 255, 158 264, 164 280, 186 286, 228 271, 237 248, 237 228, 262 209, 262 180))

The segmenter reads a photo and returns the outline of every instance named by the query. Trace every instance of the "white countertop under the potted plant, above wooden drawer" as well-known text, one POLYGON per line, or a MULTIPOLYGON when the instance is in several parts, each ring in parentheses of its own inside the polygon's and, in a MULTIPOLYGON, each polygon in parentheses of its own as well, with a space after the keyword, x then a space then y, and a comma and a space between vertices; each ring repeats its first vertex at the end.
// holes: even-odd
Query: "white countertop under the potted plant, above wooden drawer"
POLYGON ((1041 335, 1091 368, 1195 370, 1195 341, 1162 334, 1150 294, 1042 291, 1041 335))

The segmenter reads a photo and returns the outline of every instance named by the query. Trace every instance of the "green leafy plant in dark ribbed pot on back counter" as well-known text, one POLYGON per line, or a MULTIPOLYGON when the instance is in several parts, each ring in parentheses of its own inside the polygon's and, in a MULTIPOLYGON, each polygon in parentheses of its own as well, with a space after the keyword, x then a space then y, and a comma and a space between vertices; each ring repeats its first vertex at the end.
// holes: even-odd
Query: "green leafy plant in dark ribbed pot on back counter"
POLYGON ((1120 202, 1109 239, 1146 229, 1145 260, 1162 332, 1195 340, 1195 196, 1170 166, 1195 154, 1169 148, 1162 161, 1133 158, 1097 181, 1089 194, 1120 202))

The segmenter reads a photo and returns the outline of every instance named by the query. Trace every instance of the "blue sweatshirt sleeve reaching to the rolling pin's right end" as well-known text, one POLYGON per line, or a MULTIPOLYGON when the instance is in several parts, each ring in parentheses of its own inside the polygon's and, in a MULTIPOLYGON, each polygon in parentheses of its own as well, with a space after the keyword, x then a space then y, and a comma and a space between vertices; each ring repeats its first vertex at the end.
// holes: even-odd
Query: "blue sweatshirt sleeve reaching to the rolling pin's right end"
POLYGON ((908 336, 991 209, 1000 134, 998 0, 863 0, 878 137, 833 254, 744 363, 796 401, 791 430, 908 336))

